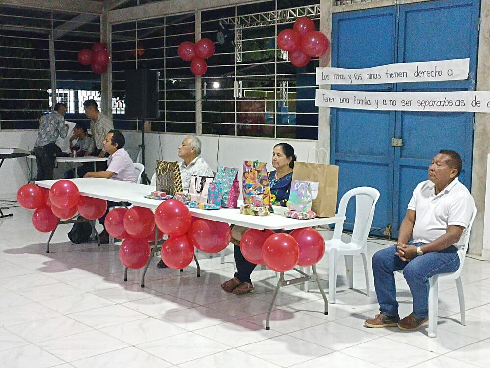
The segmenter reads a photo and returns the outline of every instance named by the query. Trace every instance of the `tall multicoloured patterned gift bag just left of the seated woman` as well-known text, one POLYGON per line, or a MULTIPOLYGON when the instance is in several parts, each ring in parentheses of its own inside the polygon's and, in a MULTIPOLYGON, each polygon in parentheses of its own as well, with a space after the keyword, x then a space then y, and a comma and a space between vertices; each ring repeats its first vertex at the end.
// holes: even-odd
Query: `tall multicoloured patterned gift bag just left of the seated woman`
POLYGON ((257 199, 260 198, 261 206, 267 207, 272 212, 270 199, 269 175, 266 163, 259 161, 244 161, 242 175, 242 195, 244 204, 258 207, 257 199))

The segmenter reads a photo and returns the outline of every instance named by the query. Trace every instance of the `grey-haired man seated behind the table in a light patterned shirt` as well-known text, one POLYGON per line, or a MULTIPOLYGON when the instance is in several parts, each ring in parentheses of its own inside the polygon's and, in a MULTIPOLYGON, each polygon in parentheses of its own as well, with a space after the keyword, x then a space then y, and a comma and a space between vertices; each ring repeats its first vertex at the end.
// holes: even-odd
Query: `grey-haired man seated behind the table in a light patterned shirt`
MULTIPOLYGON (((182 159, 179 162, 180 175, 182 177, 182 188, 184 192, 189 190, 192 175, 214 176, 208 163, 200 156, 201 141, 196 136, 187 136, 178 148, 178 155, 182 159)), ((156 265, 158 268, 166 268, 167 265, 160 260, 156 265)))

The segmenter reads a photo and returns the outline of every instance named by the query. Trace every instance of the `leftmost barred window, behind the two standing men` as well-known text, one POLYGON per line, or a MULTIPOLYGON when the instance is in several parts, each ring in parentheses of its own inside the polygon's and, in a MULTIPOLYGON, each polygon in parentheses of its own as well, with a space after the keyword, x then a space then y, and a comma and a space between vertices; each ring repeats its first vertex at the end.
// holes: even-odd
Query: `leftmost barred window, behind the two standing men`
POLYGON ((77 54, 100 39, 99 16, 1 6, 0 29, 0 129, 37 129, 51 109, 51 34, 57 101, 67 104, 67 120, 88 125, 77 91, 99 91, 100 77, 77 54))

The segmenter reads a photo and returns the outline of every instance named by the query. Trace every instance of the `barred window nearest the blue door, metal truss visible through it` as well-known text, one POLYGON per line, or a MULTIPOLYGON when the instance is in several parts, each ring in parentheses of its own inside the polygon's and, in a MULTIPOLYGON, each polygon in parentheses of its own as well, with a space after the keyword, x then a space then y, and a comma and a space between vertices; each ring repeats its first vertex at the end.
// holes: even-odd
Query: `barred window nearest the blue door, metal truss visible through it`
POLYGON ((202 77, 202 132, 236 136, 318 139, 313 58, 294 67, 276 37, 299 16, 319 29, 317 1, 266 1, 202 12, 202 37, 219 29, 233 43, 216 44, 202 77), (294 7, 295 6, 295 7, 294 7))

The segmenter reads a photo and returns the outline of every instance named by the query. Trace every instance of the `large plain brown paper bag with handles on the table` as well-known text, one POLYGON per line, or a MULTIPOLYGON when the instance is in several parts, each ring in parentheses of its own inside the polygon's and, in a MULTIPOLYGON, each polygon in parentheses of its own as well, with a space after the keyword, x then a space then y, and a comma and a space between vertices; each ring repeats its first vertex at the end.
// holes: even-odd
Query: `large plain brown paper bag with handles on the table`
POLYGON ((312 211, 317 217, 335 216, 339 167, 336 165, 294 162, 293 179, 318 182, 318 195, 312 202, 312 211))

